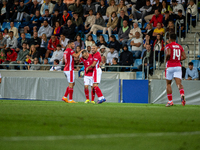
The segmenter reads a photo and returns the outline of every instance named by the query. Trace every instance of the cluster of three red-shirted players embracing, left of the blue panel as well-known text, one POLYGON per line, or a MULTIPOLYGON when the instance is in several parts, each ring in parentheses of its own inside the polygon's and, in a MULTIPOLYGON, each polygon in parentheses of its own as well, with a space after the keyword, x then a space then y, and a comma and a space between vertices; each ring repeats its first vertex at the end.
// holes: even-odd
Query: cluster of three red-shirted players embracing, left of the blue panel
POLYGON ((81 50, 78 53, 75 53, 73 51, 74 49, 74 41, 68 42, 68 48, 65 50, 63 55, 63 61, 65 62, 64 67, 64 74, 67 77, 67 80, 69 82, 69 86, 66 89, 66 92, 62 98, 63 101, 67 103, 76 103, 73 100, 73 87, 75 85, 74 79, 74 57, 79 57, 82 53, 82 57, 80 59, 81 62, 84 64, 84 85, 85 85, 85 96, 86 101, 85 103, 90 103, 89 99, 89 89, 88 86, 91 86, 91 103, 95 104, 94 98, 95 93, 98 96, 97 104, 101 104, 103 102, 106 102, 106 99, 104 98, 100 88, 98 87, 98 84, 101 82, 101 74, 102 70, 100 68, 101 63, 101 54, 97 51, 96 46, 92 46, 92 53, 89 54, 87 50, 81 50), (69 100, 67 99, 67 96, 69 95, 69 100))

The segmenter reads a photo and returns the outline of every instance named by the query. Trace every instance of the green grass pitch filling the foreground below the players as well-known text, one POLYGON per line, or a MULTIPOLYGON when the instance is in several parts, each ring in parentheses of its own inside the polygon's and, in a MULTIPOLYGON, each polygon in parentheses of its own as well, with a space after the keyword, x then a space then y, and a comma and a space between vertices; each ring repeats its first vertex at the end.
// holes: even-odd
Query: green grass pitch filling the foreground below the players
POLYGON ((0 150, 199 150, 200 106, 0 101, 0 150))

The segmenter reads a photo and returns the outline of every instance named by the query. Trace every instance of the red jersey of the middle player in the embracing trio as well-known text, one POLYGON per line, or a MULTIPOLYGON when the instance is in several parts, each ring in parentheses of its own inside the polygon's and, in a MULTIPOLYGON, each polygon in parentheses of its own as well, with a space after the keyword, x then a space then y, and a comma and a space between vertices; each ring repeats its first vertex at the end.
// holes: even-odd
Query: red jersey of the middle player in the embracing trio
POLYGON ((80 62, 83 62, 83 64, 84 64, 84 73, 85 73, 85 76, 92 77, 92 75, 93 75, 93 68, 90 68, 88 70, 88 72, 86 72, 86 68, 89 67, 90 65, 92 65, 92 63, 93 63, 93 57, 92 57, 92 55, 89 54, 88 59, 85 59, 85 58, 81 57, 80 62))

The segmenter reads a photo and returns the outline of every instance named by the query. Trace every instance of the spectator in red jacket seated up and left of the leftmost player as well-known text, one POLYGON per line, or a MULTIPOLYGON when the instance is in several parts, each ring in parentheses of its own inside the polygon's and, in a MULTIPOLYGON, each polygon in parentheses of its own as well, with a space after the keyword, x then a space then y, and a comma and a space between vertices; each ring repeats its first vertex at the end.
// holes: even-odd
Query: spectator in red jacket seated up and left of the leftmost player
POLYGON ((51 39, 48 42, 47 51, 45 54, 45 58, 49 57, 49 54, 56 51, 56 46, 60 43, 58 38, 55 35, 51 36, 51 39))

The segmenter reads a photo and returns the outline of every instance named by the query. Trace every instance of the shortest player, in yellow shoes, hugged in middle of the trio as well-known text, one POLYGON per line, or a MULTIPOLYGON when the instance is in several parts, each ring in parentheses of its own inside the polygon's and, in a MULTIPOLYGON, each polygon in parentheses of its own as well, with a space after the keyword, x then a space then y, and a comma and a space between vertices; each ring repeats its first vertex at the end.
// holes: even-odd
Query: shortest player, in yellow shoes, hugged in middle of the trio
POLYGON ((85 103, 89 103, 90 102, 90 98, 89 98, 89 89, 88 86, 91 86, 91 103, 95 104, 94 102, 94 98, 95 98, 95 91, 93 88, 93 68, 90 68, 88 70, 88 72, 86 72, 86 68, 89 67, 90 65, 92 65, 93 63, 93 56, 91 54, 89 54, 86 50, 84 50, 82 52, 82 57, 80 59, 80 62, 83 62, 84 64, 84 86, 85 86, 85 97, 86 97, 86 101, 85 103))

